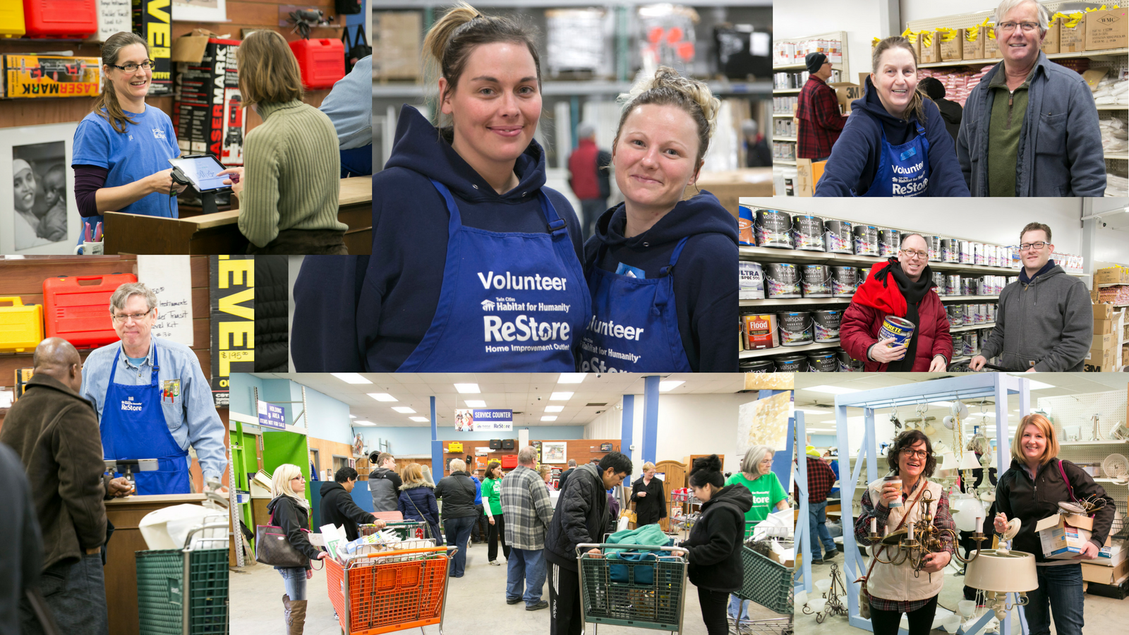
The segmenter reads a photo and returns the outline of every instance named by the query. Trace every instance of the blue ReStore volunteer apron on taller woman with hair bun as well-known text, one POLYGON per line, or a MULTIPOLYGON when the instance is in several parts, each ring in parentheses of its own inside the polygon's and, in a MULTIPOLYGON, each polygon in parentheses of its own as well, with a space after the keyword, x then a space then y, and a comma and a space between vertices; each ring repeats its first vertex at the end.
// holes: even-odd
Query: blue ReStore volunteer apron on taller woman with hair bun
POLYGON ((466 227, 450 190, 447 261, 435 318, 397 372, 572 372, 592 313, 584 270, 557 210, 537 191, 550 234, 466 227))

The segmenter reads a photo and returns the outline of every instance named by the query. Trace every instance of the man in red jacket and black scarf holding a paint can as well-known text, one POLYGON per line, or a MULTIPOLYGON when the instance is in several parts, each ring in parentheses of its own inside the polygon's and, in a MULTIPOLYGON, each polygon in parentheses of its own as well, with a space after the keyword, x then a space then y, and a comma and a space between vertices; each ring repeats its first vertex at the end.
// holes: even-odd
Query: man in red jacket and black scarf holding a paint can
POLYGON ((944 372, 953 355, 948 315, 933 290, 928 245, 919 234, 902 236, 898 258, 870 268, 855 292, 839 327, 840 343, 868 373, 944 372), (908 345, 891 346, 894 338, 878 341, 878 329, 887 315, 913 322, 908 345))

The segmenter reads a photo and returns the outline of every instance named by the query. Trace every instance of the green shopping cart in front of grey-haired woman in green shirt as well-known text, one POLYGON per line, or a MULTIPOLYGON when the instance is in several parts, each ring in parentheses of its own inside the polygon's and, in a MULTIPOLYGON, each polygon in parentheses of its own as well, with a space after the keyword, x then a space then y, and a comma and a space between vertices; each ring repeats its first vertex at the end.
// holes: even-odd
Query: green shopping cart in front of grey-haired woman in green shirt
MULTIPOLYGON (((747 524, 746 532, 749 532, 747 524)), ((793 569, 744 545, 741 547, 741 562, 745 573, 744 582, 741 590, 734 594, 742 600, 751 600, 785 617, 742 621, 738 614, 738 619, 733 623, 735 633, 738 635, 746 633, 791 635, 795 597, 791 585, 793 569)))

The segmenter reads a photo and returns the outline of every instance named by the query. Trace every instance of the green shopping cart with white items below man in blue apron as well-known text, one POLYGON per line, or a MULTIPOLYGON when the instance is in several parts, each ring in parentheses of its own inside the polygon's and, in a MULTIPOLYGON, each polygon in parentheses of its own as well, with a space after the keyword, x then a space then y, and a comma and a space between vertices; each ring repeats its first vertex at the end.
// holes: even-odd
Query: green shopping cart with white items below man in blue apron
POLYGON ((226 635, 228 632, 227 513, 189 531, 183 549, 137 551, 141 635, 226 635), (225 530, 222 538, 192 545, 195 533, 225 530))

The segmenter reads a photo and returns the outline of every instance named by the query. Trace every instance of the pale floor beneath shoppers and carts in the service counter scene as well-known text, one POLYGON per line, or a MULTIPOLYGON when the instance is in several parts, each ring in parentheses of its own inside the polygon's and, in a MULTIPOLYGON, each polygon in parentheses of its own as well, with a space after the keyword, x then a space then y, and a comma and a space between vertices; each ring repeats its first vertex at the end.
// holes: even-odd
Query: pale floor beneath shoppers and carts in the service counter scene
MULTIPOLYGON (((505 563, 505 558, 499 559, 505 563)), ((256 635, 285 635, 282 623, 282 577, 272 567, 253 565, 245 569, 231 569, 231 633, 255 633, 256 635)), ((706 635, 701 609, 698 606, 698 590, 686 582, 685 635, 706 635)), ((543 634, 549 632, 549 609, 526 611, 525 604, 506 603, 506 567, 487 563, 485 545, 472 545, 466 556, 466 575, 452 579, 447 586, 447 610, 444 621, 445 633, 485 633, 502 629, 508 635, 543 634), (505 621, 502 621, 505 620, 505 621)), ((308 582, 305 635, 336 635, 340 626, 333 620, 333 606, 325 588, 325 572, 315 571, 308 582)), ((549 599, 549 586, 543 599, 549 599)), ((763 607, 753 604, 753 619, 781 617, 763 607)), ((606 627, 615 635, 649 635, 655 630, 606 627)), ((426 628, 428 635, 439 633, 437 626, 426 628)))

